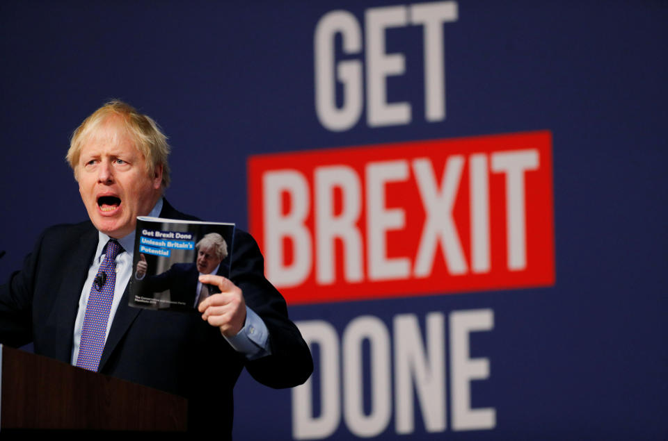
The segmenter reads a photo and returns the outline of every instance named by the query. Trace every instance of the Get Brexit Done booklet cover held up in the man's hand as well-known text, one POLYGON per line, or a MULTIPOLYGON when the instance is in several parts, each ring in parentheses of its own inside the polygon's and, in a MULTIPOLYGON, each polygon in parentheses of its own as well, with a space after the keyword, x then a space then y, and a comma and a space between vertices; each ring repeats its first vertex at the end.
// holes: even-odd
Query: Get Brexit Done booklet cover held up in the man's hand
POLYGON ((129 306, 197 310, 220 292, 198 282, 200 274, 230 276, 234 224, 137 217, 129 306))

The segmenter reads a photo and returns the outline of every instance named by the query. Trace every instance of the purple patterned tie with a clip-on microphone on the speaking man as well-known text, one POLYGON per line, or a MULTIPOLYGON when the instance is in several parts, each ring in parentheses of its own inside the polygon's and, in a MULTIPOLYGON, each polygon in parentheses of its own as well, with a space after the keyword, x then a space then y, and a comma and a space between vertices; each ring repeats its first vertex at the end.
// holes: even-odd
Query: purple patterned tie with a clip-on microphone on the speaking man
POLYGON ((124 251, 115 239, 106 242, 105 249, 104 260, 97 270, 93 286, 90 287, 84 327, 81 328, 79 356, 77 356, 77 366, 89 371, 97 371, 100 365, 106 322, 109 321, 113 287, 116 285, 116 256, 124 251))

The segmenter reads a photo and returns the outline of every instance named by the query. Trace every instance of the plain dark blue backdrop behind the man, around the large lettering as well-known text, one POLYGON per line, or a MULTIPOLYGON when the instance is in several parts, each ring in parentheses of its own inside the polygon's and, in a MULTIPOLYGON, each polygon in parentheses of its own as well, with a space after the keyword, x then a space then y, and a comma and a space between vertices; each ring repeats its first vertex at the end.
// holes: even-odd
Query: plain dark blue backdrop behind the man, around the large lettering
MULTIPOLYGON (((241 228, 251 155, 549 130, 554 286, 293 306, 291 317, 327 322, 340 337, 363 315, 391 333, 398 314, 424 328, 430 312, 447 327, 452 311, 493 311, 493 330, 470 337, 470 356, 490 365, 471 383, 470 406, 494 408, 495 425, 455 430, 447 390, 446 428, 428 433, 416 407, 412 439, 665 438, 667 3, 459 0, 443 25, 445 119, 424 117, 422 30, 407 26, 386 33, 388 52, 406 58, 388 101, 410 101, 411 121, 372 127, 363 111, 351 128, 328 130, 315 109, 317 23, 345 10, 363 30, 365 11, 395 4, 4 1, 0 280, 43 228, 86 217, 64 157, 72 130, 109 98, 169 136, 173 205, 241 228)), ((336 44, 337 59, 364 60, 336 44)), ((291 392, 244 374, 235 403, 237 438, 294 435, 291 392)), ((378 433, 386 439, 401 438, 392 415, 378 433)), ((355 435, 341 417, 329 436, 355 435)))

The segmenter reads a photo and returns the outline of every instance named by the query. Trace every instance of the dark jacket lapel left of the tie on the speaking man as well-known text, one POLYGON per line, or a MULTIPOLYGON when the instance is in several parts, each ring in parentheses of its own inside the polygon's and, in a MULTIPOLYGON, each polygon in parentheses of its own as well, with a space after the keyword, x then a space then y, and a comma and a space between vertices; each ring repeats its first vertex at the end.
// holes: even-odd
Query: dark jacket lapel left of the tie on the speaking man
POLYGON ((57 309, 56 326, 59 330, 54 335, 54 349, 58 360, 65 363, 70 363, 72 360, 72 335, 79 310, 81 288, 86 283, 88 268, 95 256, 95 249, 97 249, 97 230, 90 228, 72 247, 66 272, 70 274, 70 283, 63 283, 56 293, 56 298, 61 301, 54 303, 57 309))

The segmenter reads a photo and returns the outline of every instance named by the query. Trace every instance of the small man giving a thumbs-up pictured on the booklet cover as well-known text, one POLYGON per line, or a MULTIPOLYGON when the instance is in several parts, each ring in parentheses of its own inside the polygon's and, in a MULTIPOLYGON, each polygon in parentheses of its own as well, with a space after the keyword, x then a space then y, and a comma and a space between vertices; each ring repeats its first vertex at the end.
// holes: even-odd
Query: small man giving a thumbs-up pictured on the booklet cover
POLYGON ((135 278, 139 292, 146 297, 169 290, 170 308, 190 310, 204 301, 210 294, 218 292, 214 285, 198 281, 200 274, 229 276, 228 265, 223 260, 228 256, 228 244, 218 233, 208 233, 195 245, 197 260, 193 263, 175 263, 166 272, 146 277, 148 263, 139 255, 135 278))

